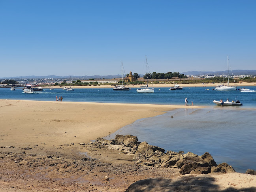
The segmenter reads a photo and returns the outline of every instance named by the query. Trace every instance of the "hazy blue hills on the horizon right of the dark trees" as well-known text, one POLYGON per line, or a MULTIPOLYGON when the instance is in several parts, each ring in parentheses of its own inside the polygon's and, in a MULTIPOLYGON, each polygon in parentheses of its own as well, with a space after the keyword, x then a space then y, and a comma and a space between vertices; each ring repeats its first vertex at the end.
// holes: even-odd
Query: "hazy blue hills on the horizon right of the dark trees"
MULTIPOLYGON (((232 70, 233 75, 256 75, 256 70, 232 70)), ((231 71, 229 71, 230 74, 232 74, 231 71)), ((218 72, 182 72, 181 74, 184 75, 226 75, 228 74, 228 70, 226 71, 218 71, 218 72)))

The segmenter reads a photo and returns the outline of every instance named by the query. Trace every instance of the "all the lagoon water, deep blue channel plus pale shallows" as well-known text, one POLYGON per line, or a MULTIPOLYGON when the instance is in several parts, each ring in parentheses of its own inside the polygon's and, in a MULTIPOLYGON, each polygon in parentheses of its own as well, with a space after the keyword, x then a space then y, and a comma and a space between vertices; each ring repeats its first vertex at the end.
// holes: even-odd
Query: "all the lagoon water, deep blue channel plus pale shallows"
MULTIPOLYGON (((141 142, 147 141, 168 151, 190 151, 198 155, 207 151, 217 164, 227 162, 238 172, 245 172, 248 168, 256 170, 256 92, 207 88, 210 90, 205 90, 205 87, 155 88, 154 93, 137 93, 132 87, 129 91, 96 87, 75 88, 74 91, 45 88, 37 94, 23 94, 21 88, 15 91, 0 88, 0 99, 55 101, 58 95, 63 101, 73 102, 184 105, 187 97, 189 105, 193 101, 194 105, 207 108, 175 109, 164 115, 140 119, 107 138, 130 134, 141 142), (231 101, 236 97, 242 106, 217 106, 213 103, 213 100, 229 98, 231 101)), ((256 90, 256 87, 246 88, 256 90)))

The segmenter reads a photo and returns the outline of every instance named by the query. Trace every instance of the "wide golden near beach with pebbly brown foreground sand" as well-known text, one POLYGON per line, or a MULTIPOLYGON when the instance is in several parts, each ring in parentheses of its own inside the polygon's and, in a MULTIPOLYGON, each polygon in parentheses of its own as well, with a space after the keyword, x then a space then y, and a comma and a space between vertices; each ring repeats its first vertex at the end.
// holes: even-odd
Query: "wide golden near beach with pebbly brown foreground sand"
MULTIPOLYGON (((105 137, 137 119, 153 117, 177 108, 201 107, 0 100, 0 191, 117 192, 125 191, 130 184, 145 179, 145 175, 169 179, 180 177, 175 168, 136 168, 131 161, 132 158, 126 154, 87 145, 96 138, 105 137), (69 166, 76 164, 72 162, 81 163, 81 153, 87 153, 97 161, 94 161, 94 164, 81 164, 81 169, 80 164, 75 168, 69 166), (95 167, 95 164, 98 167, 95 167), (52 165, 59 167, 55 168, 52 165), (120 167, 127 171, 113 171, 120 167), (135 169, 138 172, 131 171, 135 169), (81 170, 84 172, 81 173, 81 170), (111 175, 113 179, 106 182, 103 179, 105 175, 111 175), (83 182, 77 182, 77 178, 83 182)), ((225 174, 211 177, 216 179, 216 185, 222 189, 228 188, 232 182, 236 182, 232 187, 237 189, 241 188, 240 186, 255 186, 255 175, 242 175, 243 177, 241 173, 234 173, 232 177, 225 174)))

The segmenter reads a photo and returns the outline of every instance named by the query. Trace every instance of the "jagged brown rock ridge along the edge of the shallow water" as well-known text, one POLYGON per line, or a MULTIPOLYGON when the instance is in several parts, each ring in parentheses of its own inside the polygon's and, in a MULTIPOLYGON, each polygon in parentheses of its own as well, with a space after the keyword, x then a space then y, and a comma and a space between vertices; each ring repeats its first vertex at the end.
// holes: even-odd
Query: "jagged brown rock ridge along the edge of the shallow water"
MULTIPOLYGON (((184 151, 173 152, 149 145, 146 141, 140 143, 136 136, 117 135, 115 139, 106 140, 103 138, 96 139, 100 145, 107 145, 109 149, 129 152, 134 154, 134 160, 137 165, 141 166, 156 166, 161 168, 180 168, 180 173, 185 174, 207 174, 210 172, 217 173, 233 173, 235 170, 227 163, 217 165, 209 152, 198 156, 192 152, 184 151)), ((253 170, 249 171, 254 173, 253 170)))

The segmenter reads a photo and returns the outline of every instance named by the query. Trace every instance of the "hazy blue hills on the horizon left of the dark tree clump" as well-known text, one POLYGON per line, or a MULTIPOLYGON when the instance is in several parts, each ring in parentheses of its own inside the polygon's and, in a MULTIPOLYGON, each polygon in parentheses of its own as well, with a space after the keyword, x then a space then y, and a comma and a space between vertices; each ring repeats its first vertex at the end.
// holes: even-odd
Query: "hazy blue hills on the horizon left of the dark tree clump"
MULTIPOLYGON (((143 75, 139 74, 140 77, 143 75)), ((76 76, 76 75, 68 75, 68 76, 56 76, 56 75, 47 75, 47 76, 16 76, 16 77, 1 77, 0 79, 113 79, 113 78, 121 78, 122 75, 92 75, 92 76, 76 76)))

